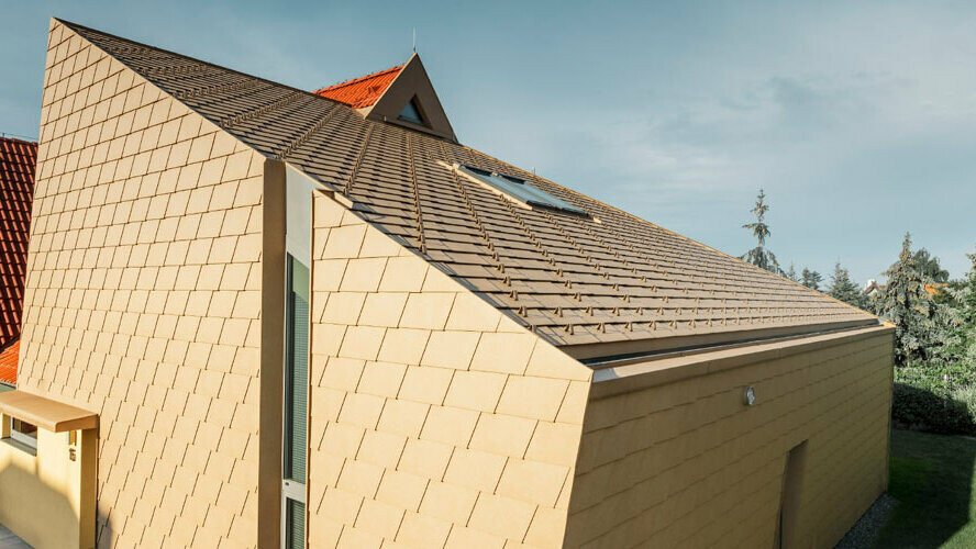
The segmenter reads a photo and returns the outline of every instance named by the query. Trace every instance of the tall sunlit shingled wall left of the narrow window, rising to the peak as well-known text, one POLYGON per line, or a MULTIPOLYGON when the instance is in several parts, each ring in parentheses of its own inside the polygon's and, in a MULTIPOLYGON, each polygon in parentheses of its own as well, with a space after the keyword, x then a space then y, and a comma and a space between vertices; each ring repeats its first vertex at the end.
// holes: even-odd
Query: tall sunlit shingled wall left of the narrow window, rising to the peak
POLYGON ((256 539, 263 158, 53 22, 20 389, 100 416, 100 547, 256 539))

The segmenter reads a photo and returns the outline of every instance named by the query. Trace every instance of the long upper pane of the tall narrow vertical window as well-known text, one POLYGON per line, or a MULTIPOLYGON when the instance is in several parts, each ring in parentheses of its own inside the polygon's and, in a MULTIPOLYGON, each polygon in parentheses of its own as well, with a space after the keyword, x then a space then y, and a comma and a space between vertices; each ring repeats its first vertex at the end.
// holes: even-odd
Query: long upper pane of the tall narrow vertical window
POLYGON ((309 269, 288 261, 285 371, 285 478, 304 483, 309 385, 309 269))

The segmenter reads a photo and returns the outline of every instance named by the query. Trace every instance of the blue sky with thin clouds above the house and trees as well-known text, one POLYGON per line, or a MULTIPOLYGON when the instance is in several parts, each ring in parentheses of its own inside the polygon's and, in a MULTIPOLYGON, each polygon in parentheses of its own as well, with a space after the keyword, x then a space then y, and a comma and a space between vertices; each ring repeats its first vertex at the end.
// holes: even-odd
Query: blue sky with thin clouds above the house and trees
POLYGON ((467 145, 784 266, 976 250, 976 4, 0 0, 0 132, 36 136, 48 18, 314 89, 406 60, 467 145))

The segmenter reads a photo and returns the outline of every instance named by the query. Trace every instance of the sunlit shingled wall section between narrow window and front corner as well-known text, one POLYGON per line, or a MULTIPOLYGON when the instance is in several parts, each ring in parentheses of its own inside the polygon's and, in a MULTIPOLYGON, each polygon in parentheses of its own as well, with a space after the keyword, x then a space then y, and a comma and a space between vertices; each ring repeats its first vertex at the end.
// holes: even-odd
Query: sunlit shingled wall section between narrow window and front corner
POLYGON ((334 202, 312 238, 311 547, 559 547, 592 372, 334 202))

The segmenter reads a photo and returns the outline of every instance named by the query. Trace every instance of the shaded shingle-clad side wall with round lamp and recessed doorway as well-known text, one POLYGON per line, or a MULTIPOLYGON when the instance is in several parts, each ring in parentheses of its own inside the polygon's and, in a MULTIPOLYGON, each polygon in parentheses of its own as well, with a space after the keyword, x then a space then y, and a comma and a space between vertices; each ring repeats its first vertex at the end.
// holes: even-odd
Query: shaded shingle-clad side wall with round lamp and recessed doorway
POLYGON ((595 383, 566 545, 778 547, 786 456, 807 441, 791 547, 833 547, 887 485, 892 343, 813 339, 595 383))

